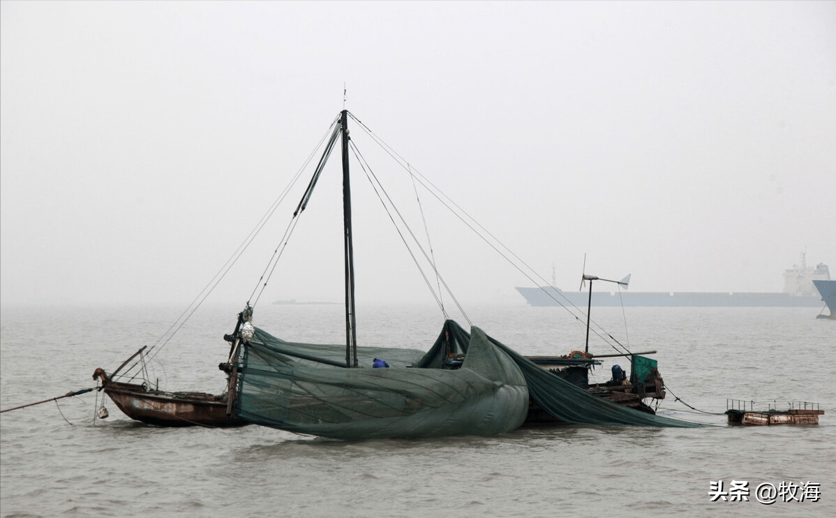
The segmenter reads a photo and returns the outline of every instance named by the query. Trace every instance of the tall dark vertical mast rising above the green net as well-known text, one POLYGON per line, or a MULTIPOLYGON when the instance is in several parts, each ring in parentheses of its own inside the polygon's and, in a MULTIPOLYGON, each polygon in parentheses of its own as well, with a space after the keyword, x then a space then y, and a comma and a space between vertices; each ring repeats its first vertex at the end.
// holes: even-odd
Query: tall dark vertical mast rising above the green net
POLYGON ((351 183, 349 182, 349 112, 340 112, 343 138, 343 223, 345 238, 345 367, 357 367, 357 321, 354 317, 354 244, 351 238, 351 183))

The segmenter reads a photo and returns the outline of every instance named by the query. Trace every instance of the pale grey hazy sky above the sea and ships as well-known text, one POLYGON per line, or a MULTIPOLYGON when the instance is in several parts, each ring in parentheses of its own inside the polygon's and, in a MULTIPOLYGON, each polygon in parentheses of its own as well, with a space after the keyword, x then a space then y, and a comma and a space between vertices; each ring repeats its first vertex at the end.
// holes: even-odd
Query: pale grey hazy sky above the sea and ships
MULTIPOLYGON (((584 254, 588 273, 633 274, 640 291, 779 291, 803 250, 836 269, 833 2, 3 1, 0 14, 3 304, 187 303, 301 167, 344 84, 354 115, 547 279, 554 264, 563 289, 584 254)), ((340 300, 339 226, 325 226, 340 224, 325 223, 338 174, 266 299, 340 300)), ((381 218, 366 184, 358 172, 359 294, 430 300, 364 230, 381 218)), ((291 198, 213 297, 247 300, 291 198)), ((523 303, 513 287, 529 280, 440 222, 428 217, 436 258, 462 300, 523 303)))

